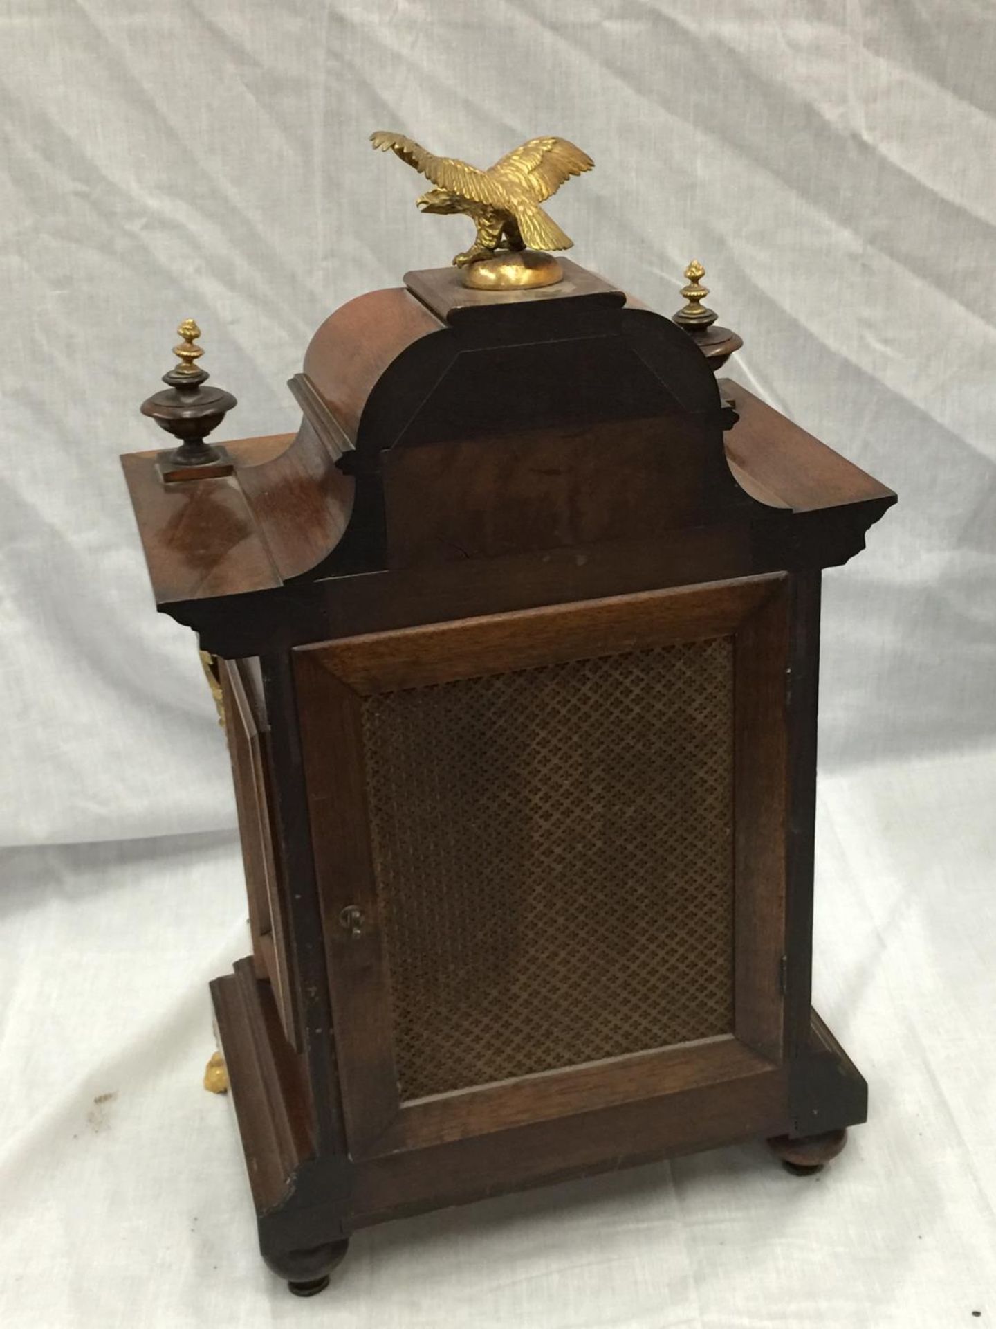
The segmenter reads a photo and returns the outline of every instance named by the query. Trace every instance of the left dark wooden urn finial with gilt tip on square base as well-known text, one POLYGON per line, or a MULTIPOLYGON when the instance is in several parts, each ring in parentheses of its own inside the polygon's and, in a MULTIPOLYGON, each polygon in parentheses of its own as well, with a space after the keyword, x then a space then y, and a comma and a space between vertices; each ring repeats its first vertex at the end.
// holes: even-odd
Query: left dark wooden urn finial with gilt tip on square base
POLYGON ((166 481, 231 474, 232 464, 226 449, 205 443, 205 439, 236 405, 235 397, 231 392, 203 385, 210 375, 197 364, 205 352, 195 346, 201 328, 194 319, 185 319, 177 332, 181 343, 174 346, 173 354, 179 364, 162 376, 169 388, 149 397, 141 408, 142 415, 181 440, 179 448, 159 455, 159 473, 166 481))

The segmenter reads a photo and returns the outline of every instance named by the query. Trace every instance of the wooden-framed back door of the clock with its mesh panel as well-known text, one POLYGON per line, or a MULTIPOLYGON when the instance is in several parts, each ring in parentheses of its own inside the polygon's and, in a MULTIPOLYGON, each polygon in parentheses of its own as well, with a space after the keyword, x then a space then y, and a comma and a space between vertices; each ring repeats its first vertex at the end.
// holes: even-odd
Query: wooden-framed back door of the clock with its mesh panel
POLYGON ((781 1059, 785 582, 295 651, 353 1156, 781 1059))

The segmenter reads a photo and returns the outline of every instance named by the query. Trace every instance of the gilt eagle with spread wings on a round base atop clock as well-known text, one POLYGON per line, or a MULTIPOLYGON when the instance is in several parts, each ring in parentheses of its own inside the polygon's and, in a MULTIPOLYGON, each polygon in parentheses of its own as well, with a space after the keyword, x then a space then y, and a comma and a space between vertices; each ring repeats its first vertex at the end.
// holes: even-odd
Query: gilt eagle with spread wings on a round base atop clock
POLYGON ((530 138, 478 170, 456 157, 434 157, 404 134, 378 129, 371 142, 394 152, 436 186, 416 199, 424 213, 466 213, 473 219, 474 243, 453 259, 466 286, 501 290, 560 280, 560 264, 544 251, 574 242, 539 205, 595 165, 580 148, 566 138, 530 138))

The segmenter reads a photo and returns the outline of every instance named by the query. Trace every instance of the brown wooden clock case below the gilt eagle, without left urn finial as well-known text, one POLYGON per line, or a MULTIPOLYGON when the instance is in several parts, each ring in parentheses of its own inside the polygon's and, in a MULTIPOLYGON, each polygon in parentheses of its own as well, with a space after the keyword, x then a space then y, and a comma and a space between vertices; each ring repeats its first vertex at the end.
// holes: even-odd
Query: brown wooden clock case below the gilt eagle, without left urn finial
POLYGON ((699 267, 675 322, 562 270, 410 272, 319 328, 296 433, 124 459, 218 658, 212 995, 299 1293, 372 1223, 752 1138, 811 1171, 865 1118, 810 1007, 819 587, 895 496, 717 387, 699 267))

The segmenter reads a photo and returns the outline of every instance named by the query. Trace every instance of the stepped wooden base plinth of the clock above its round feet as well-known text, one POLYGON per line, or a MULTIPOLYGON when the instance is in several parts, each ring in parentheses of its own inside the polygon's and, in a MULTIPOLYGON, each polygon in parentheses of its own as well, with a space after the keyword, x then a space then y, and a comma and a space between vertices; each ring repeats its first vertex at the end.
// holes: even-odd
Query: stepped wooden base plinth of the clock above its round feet
MULTIPOLYGON (((754 1058, 752 1067, 745 1059, 744 1074, 733 1080, 672 1086, 672 1092, 637 1102, 356 1163, 343 1155, 323 1158, 309 1150, 307 1087, 267 1002, 267 985, 242 961, 235 975, 215 979, 211 993, 260 1243, 270 1257, 445 1204, 865 1120, 865 1082, 813 1013, 810 1053, 797 1066, 754 1058)), ((737 1055, 750 1057, 742 1049, 737 1055)))

